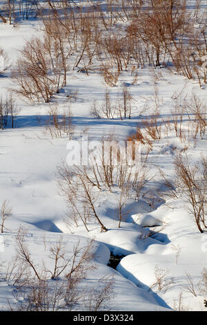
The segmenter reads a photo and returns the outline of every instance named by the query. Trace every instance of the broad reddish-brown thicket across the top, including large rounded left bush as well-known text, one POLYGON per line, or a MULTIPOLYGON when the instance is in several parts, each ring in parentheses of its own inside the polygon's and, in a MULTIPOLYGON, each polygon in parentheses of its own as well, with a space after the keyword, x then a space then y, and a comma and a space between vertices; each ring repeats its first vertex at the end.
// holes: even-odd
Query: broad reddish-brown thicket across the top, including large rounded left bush
POLYGON ((196 10, 186 0, 107 0, 106 6, 91 0, 84 8, 47 0, 37 7, 44 39, 27 41, 14 71, 18 92, 31 101, 48 102, 66 86, 69 68, 97 70, 108 86, 126 69, 136 82, 137 69, 147 65, 174 66, 206 82, 206 16, 199 1, 196 10))

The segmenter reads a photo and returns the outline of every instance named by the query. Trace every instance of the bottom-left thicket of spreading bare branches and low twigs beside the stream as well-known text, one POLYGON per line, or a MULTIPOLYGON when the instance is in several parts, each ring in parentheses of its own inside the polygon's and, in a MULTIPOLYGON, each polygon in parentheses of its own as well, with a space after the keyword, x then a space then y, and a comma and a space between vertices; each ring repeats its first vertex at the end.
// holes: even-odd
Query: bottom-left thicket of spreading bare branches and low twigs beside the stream
POLYGON ((26 230, 19 228, 17 254, 12 261, 1 263, 1 281, 14 289, 14 300, 8 301, 10 310, 95 311, 108 308, 114 297, 112 277, 106 275, 98 279, 98 288, 84 284, 88 272, 97 268, 92 262, 92 241, 82 247, 78 241, 72 253, 67 254, 62 237, 53 244, 45 240, 44 261, 37 263, 26 239, 26 230))

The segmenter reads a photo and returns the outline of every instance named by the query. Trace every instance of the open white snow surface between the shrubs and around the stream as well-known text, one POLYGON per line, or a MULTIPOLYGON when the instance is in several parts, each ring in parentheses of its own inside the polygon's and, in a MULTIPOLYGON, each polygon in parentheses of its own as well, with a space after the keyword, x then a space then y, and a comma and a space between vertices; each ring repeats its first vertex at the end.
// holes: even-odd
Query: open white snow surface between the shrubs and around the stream
MULTIPOLYGON (((21 22, 18 28, 0 24, 0 45, 15 62, 17 50, 23 46, 25 39, 39 34, 39 21, 21 22)), ((67 86, 52 101, 64 108, 68 105, 67 95, 77 91, 77 100, 71 105, 75 140, 80 140, 83 133, 87 133, 92 140, 100 140, 109 133, 114 133, 119 140, 126 140, 137 125, 141 125, 141 118, 150 114, 151 108, 141 117, 139 111, 143 109, 146 99, 148 106, 152 107, 155 86, 159 92, 161 118, 170 119, 173 96, 179 94, 181 89, 182 97, 190 100, 195 93, 207 102, 206 84, 201 89, 196 81, 174 75, 167 68, 140 69, 137 84, 131 84, 129 73, 122 73, 117 86, 110 89, 112 101, 116 101, 124 83, 130 85, 130 93, 136 100, 132 107, 132 118, 97 120, 91 115, 90 106, 93 100, 103 100, 106 89, 103 78, 95 72, 89 75, 77 71, 68 73, 67 86)), ((5 75, 0 75, 0 96, 6 97, 11 85, 9 70, 5 75)), ((3 242, 0 263, 10 261, 14 256, 20 225, 27 228, 26 243, 36 263, 41 263, 43 259, 45 238, 55 243, 59 236, 63 236, 67 252, 72 254, 72 247, 78 238, 84 244, 89 237, 95 239, 95 263, 98 268, 88 274, 88 285, 96 288, 97 279, 103 275, 114 277, 112 310, 170 310, 178 308, 179 299, 186 310, 207 310, 203 302, 207 297, 198 290, 201 272, 207 267, 207 234, 199 233, 184 200, 161 196, 161 176, 158 173, 160 167, 168 178, 175 179, 172 165, 175 154, 187 147, 188 155, 197 161, 200 154, 206 154, 206 135, 196 142, 192 139, 181 142, 174 133, 167 136, 163 131, 163 136, 155 140, 148 156, 150 176, 154 176, 154 179, 146 196, 141 197, 138 203, 128 203, 128 218, 118 228, 117 198, 115 194, 103 192, 96 205, 108 232, 100 233, 99 225, 93 222, 90 232, 86 232, 83 226, 69 229, 63 221, 66 201, 59 193, 56 176, 57 165, 68 154, 68 137, 52 139, 46 128, 39 125, 39 118, 44 123, 48 115, 48 104, 28 104, 20 97, 17 97, 17 104, 21 108, 17 127, 0 130, 0 203, 7 199, 13 207, 12 215, 6 220, 6 231, 0 234, 0 245, 3 242), (149 204, 152 198, 156 198, 154 205, 149 204), (160 232, 148 236, 155 225, 160 232), (110 252, 124 256, 117 271, 107 266, 110 252), (166 287, 159 290, 157 285, 153 286, 156 268, 165 274, 168 281, 166 292, 166 287), (187 275, 192 278, 196 297, 186 288, 187 275)), ((3 310, 8 308, 8 299, 14 299, 12 288, 6 281, 0 281, 0 308, 3 310)))

